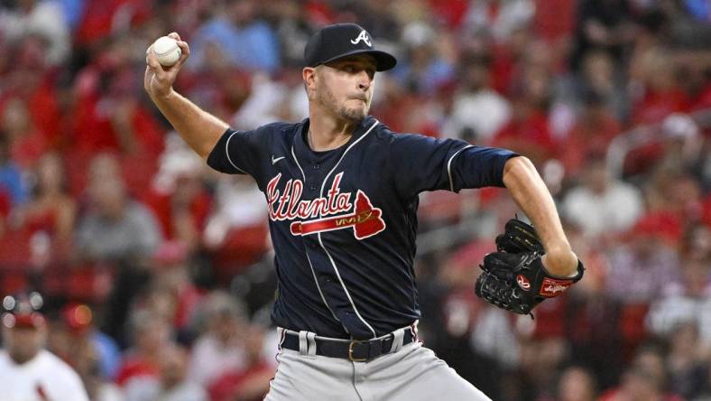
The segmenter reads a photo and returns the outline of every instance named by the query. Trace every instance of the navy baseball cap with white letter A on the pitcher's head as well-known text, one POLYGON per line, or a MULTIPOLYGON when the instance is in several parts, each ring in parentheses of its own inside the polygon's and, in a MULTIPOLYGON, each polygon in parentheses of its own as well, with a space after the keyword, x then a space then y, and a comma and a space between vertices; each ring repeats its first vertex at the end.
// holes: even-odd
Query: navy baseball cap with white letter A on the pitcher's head
POLYGON ((354 54, 370 54, 375 59, 375 70, 386 71, 397 60, 385 51, 374 49, 370 33, 356 23, 336 23, 314 33, 304 49, 308 67, 316 67, 354 54))

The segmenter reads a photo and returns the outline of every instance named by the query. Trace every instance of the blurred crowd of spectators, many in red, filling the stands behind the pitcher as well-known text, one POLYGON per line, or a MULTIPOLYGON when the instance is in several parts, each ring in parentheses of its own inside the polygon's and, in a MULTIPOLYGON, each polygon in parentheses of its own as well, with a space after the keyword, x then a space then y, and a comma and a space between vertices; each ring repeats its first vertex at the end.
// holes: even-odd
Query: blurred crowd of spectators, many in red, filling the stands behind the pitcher
POLYGON ((517 211, 499 189, 420 197, 425 343, 495 400, 711 400, 711 4, 705 0, 5 0, 0 293, 42 292, 47 348, 95 401, 261 399, 273 252, 253 180, 209 171, 143 92, 241 129, 308 115, 302 51, 356 22, 398 58, 393 130, 536 163, 585 279, 535 320, 477 299, 517 211))

